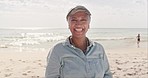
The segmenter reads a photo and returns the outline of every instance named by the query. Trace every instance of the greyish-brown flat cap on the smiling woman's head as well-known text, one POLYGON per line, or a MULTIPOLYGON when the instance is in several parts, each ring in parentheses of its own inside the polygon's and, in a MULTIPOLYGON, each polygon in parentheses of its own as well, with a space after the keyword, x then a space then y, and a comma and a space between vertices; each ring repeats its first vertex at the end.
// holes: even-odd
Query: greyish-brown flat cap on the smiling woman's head
POLYGON ((91 13, 89 12, 89 10, 86 9, 84 6, 76 6, 76 7, 72 8, 72 9, 69 11, 69 13, 68 13, 67 16, 66 16, 66 19, 68 20, 68 17, 69 17, 70 15, 73 15, 73 14, 75 14, 75 13, 77 13, 77 12, 80 12, 80 11, 84 11, 84 12, 87 13, 88 15, 91 15, 91 13))

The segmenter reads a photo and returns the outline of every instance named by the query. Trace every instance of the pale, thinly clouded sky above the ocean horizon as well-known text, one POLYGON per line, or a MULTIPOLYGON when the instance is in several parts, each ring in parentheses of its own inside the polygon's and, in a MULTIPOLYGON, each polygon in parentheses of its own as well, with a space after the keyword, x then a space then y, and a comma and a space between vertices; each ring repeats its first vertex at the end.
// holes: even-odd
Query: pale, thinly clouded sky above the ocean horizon
POLYGON ((0 28, 68 28, 66 15, 82 5, 91 28, 147 28, 147 0, 0 0, 0 28))

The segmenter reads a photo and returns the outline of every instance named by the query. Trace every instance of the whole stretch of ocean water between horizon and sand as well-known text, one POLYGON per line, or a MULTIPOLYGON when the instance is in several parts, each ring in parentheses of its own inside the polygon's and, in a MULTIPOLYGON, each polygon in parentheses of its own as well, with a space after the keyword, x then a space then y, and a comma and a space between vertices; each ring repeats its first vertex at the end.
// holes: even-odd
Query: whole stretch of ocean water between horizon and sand
MULTIPOLYGON (((136 36, 141 43, 148 41, 146 28, 91 28, 87 37, 105 48, 136 47, 136 36), (134 46, 133 46, 134 45, 134 46)), ((67 28, 55 29, 0 29, 0 52, 48 51, 58 41, 65 40, 71 33, 67 28)), ((144 44, 142 47, 147 47, 144 44)))

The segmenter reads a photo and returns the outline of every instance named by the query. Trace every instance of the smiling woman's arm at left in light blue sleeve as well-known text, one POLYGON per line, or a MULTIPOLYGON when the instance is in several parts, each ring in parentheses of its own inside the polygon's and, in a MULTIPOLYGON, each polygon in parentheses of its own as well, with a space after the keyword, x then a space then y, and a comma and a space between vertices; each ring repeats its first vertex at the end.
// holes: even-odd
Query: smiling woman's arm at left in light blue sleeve
POLYGON ((60 78, 60 60, 56 51, 51 49, 47 56, 45 78, 60 78))

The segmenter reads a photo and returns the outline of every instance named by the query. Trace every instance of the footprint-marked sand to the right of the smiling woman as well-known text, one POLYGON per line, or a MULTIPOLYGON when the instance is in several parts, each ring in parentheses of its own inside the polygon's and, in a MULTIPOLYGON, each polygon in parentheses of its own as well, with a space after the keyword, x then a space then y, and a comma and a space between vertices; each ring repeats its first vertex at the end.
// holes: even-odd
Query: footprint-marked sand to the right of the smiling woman
POLYGON ((146 48, 107 50, 113 78, 148 78, 146 48))

